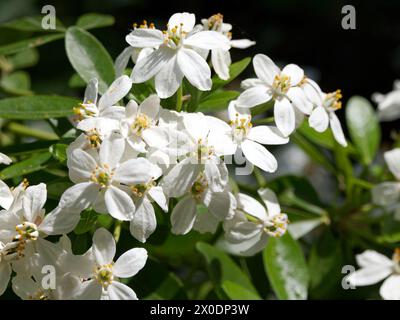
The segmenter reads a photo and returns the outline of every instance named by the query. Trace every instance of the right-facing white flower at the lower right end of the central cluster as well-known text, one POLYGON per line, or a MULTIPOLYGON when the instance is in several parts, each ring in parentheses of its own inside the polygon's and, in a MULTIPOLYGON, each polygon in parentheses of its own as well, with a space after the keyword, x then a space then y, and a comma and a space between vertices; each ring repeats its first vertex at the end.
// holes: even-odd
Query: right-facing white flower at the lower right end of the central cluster
POLYGON ((239 193, 235 216, 224 223, 227 249, 232 253, 254 255, 265 247, 269 236, 280 237, 287 230, 288 217, 281 213, 275 193, 260 189, 258 194, 267 210, 254 198, 239 193))

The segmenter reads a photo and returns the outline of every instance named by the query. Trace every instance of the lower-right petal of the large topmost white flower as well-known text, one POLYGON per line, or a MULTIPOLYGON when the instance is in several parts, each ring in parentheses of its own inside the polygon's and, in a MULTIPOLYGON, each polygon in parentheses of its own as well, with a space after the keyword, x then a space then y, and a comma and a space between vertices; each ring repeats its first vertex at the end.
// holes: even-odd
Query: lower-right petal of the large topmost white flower
POLYGON ((197 52, 182 48, 177 58, 181 71, 193 86, 202 91, 211 89, 210 67, 197 52))

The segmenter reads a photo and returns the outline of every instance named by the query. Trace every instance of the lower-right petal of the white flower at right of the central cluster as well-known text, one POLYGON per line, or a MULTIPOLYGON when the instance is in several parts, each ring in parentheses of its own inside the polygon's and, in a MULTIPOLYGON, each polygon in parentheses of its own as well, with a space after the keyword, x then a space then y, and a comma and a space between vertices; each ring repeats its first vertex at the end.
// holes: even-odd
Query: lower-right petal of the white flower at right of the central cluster
POLYGON ((246 159, 260 169, 275 172, 278 168, 275 157, 261 144, 247 139, 242 142, 241 149, 246 159))

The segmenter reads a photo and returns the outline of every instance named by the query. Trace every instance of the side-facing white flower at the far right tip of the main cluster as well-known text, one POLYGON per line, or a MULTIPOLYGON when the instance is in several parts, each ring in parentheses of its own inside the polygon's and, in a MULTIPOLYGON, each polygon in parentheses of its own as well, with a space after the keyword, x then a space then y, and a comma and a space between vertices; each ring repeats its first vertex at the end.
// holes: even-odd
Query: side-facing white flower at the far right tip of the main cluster
POLYGON ((318 132, 324 132, 330 126, 335 140, 343 147, 346 147, 346 138, 343 134, 340 121, 335 114, 336 110, 342 108, 342 103, 340 101, 342 94, 340 90, 324 93, 314 81, 311 79, 307 79, 306 81, 310 84, 307 87, 306 95, 314 106, 310 118, 308 119, 310 127, 318 132))

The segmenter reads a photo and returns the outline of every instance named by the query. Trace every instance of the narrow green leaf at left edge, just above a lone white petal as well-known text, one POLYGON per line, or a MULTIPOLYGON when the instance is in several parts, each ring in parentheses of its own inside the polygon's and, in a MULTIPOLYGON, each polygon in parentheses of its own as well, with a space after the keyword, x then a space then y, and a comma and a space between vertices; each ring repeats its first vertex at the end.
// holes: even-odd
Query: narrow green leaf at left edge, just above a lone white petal
POLYGON ((15 177, 22 177, 29 173, 44 169, 45 163, 51 158, 50 152, 36 154, 29 159, 20 161, 8 166, 0 172, 0 179, 6 180, 15 177))

